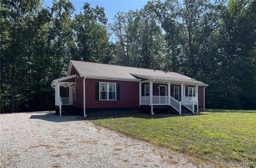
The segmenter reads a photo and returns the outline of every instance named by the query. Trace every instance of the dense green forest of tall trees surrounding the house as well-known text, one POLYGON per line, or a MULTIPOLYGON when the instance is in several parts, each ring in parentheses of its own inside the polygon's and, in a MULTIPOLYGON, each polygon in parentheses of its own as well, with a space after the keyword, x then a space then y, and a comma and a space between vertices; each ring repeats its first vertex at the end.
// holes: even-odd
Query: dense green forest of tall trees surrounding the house
MULTIPOLYGON (((135 2, 132 2, 135 3, 135 2)), ((175 71, 209 84, 206 108, 256 109, 256 1, 153 0, 118 12, 1 0, 1 112, 54 108, 69 60, 175 71)))

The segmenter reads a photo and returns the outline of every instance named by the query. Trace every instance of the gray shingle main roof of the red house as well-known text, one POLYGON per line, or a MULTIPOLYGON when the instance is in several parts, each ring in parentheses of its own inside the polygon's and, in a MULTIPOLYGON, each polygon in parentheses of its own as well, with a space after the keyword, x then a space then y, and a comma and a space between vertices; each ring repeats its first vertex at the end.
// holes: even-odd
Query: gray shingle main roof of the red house
MULTIPOLYGON (((103 78, 120 78, 120 79, 158 79, 162 81, 176 81, 176 82, 191 82, 201 83, 193 78, 181 75, 178 73, 167 72, 162 70, 134 68, 125 66, 108 65, 102 63, 84 62, 84 61, 70 61, 71 65, 75 67, 79 75, 85 77, 103 77, 103 78)), ((68 73, 71 66, 69 65, 68 73)), ((69 75, 69 74, 68 74, 69 75)))

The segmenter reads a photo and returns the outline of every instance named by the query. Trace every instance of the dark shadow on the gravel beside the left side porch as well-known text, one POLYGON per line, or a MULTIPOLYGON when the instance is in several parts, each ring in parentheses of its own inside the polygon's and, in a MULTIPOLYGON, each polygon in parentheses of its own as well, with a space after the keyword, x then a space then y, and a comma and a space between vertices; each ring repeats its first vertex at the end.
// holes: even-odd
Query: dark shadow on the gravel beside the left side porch
POLYGON ((47 113, 44 115, 31 115, 29 119, 42 119, 44 121, 61 123, 61 122, 71 122, 71 121, 82 121, 84 117, 82 116, 58 116, 55 113, 47 113))

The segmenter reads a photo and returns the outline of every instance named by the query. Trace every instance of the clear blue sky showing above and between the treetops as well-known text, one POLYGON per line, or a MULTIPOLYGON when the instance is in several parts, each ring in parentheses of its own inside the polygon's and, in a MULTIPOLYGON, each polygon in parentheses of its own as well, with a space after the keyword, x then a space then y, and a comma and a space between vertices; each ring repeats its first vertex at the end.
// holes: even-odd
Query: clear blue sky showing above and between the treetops
MULTIPOLYGON (((91 1, 83 1, 83 0, 70 0, 71 3, 74 5, 76 11, 75 13, 79 13, 81 8, 85 2, 91 4, 92 7, 96 5, 101 6, 105 9, 105 14, 108 19, 108 23, 113 23, 113 18, 118 11, 128 12, 129 10, 139 10, 143 8, 144 5, 147 4, 147 0, 91 0, 91 1)), ((44 6, 52 6, 52 0, 44 0, 44 6)))

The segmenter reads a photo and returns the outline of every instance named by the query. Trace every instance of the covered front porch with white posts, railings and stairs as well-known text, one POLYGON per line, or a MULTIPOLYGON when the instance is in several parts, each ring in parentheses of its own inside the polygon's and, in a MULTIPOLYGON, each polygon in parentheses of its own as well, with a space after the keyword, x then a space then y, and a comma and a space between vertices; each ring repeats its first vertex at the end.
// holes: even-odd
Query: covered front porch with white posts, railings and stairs
POLYGON ((198 111, 198 86, 195 83, 177 83, 147 79, 139 83, 140 107, 150 107, 151 115, 155 107, 171 107, 179 115, 184 109, 198 111))

